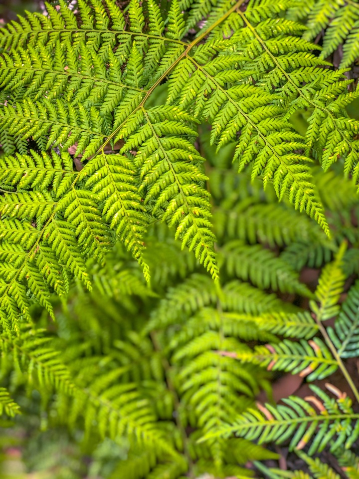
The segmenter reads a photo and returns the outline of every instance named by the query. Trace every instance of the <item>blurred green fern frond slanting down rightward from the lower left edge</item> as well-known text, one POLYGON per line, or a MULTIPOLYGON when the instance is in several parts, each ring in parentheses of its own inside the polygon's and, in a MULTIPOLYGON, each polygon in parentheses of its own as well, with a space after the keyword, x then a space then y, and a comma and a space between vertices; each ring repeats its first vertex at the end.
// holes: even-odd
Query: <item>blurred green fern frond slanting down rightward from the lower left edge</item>
POLYGON ((87 434, 96 424, 102 436, 115 438, 127 434, 139 444, 156 444, 161 451, 176 456, 173 447, 165 441, 164 432, 157 428, 153 408, 141 397, 136 383, 119 382, 126 369, 103 371, 95 357, 87 369, 86 362, 80 361, 80 373, 76 375, 76 362, 66 367, 59 359, 60 351, 48 346, 50 338, 43 337, 41 331, 28 329, 21 333, 21 337, 2 333, 2 352, 11 354, 16 370, 29 381, 35 380, 41 389, 44 385, 55 388, 60 403, 67 404, 59 410, 65 422, 73 425, 80 417, 87 434))

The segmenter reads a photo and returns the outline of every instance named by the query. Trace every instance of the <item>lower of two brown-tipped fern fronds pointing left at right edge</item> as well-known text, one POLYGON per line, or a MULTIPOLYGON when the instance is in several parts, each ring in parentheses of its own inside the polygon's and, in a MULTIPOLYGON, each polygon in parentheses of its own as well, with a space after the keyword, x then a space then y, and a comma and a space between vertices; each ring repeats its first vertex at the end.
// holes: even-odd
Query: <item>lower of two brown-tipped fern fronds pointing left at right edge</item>
MULTIPOLYGON (((332 385, 328 387, 332 389, 332 385)), ((266 404, 258 410, 248 409, 237 417, 232 426, 223 426, 217 433, 208 434, 207 438, 234 434, 256 440, 258 444, 268 441, 282 444, 290 438, 290 450, 300 450, 311 443, 310 455, 323 451, 332 441, 335 441, 333 450, 342 444, 350 448, 359 434, 359 416, 353 411, 351 399, 342 394, 333 401, 317 386, 311 386, 311 389, 318 397, 302 399, 291 396, 283 399, 284 405, 274 407, 266 404)))

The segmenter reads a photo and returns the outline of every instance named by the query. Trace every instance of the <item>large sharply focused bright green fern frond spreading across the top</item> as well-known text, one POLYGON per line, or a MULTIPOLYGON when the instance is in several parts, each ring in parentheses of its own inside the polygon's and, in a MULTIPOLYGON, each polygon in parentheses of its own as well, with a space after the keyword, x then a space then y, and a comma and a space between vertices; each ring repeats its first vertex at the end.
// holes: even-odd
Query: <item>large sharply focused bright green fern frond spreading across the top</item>
POLYGON ((113 0, 79 1, 76 13, 62 0, 1 29, 5 262, 16 248, 15 267, 2 270, 3 321, 17 327, 29 294, 51 312, 50 292, 63 294, 70 277, 89 286, 85 258, 101 260, 116 240, 149 279, 144 235, 157 220, 216 278, 194 147, 203 121, 218 148, 236 141, 239 170, 253 165, 252 178, 273 182, 329 234, 310 155, 325 169, 343 157, 356 177, 358 125, 344 109, 356 95, 282 18, 290 3, 175 0, 165 25, 153 1, 124 14, 113 0), (151 104, 164 88, 164 103, 151 104), (289 122, 303 108, 305 137, 289 122))

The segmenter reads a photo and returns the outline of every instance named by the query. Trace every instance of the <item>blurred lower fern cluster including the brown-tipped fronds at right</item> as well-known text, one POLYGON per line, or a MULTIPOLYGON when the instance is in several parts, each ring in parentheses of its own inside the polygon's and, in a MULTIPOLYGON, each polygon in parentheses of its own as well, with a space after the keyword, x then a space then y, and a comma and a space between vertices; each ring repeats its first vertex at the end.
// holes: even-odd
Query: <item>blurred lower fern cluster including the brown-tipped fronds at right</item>
MULTIPOLYGON (((347 458, 348 467, 356 464, 354 455, 342 458, 340 449, 356 445, 359 434, 352 405, 356 383, 354 393, 330 384, 337 369, 348 377, 346 358, 358 355, 352 260, 358 234, 342 215, 358 216, 356 188, 341 180, 328 198, 329 241, 289 203, 278 204, 272 187, 263 195, 259 181, 248 181, 250 172, 238 175, 230 167, 231 149, 210 155, 204 143, 203 150, 213 185, 221 284, 190 252, 180 251, 171 232, 154 225, 145 256, 152 288, 120 245, 106 254, 103 266, 88 262, 93 291, 78 280, 67 305, 54 303, 55 331, 39 329, 46 327, 47 314, 37 310, 37 326, 2 333, 4 385, 25 411, 24 388, 39 390, 43 427, 67 424, 73 438, 84 431, 81 448, 94 457, 104 438, 123 448, 104 477, 248 477, 254 468, 263 477, 282 477, 256 462, 277 457, 258 441, 290 442, 310 456, 327 447, 341 461, 347 458), (268 215, 254 215, 259 207, 268 215), (247 209, 253 212, 248 221, 247 209), (242 236, 235 239, 241 211, 242 236), (230 221, 223 222, 227 216, 230 221), (346 248, 343 239, 353 246, 346 248), (299 261, 300 268, 327 263, 315 293, 312 283, 300 281, 299 261), (338 305, 348 276, 352 286, 338 305), (325 328, 322 321, 337 315, 335 325, 325 328), (313 392, 284 399, 278 408, 258 403, 261 389, 271 397, 272 375, 280 371, 314 382, 313 392), (327 392, 318 387, 322 380, 329 381, 327 392)), ((318 185, 333 182, 333 173, 314 172, 318 185)), ((7 398, 3 404, 10 408, 7 398)), ((16 413, 16 407, 8 411, 16 413)), ((313 461, 319 467, 320 458, 313 461)))

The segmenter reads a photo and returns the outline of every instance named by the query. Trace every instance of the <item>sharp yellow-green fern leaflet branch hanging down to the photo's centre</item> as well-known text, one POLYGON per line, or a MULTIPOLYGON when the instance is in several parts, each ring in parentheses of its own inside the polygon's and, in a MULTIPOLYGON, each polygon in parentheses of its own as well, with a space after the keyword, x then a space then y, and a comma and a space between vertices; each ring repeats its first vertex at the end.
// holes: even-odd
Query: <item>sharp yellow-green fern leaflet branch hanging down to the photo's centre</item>
POLYGON ((177 228, 176 238, 182 240, 182 246, 193 250, 215 278, 214 235, 208 194, 202 186, 206 177, 199 167, 201 157, 181 138, 196 135, 185 121, 191 117, 177 107, 141 109, 129 126, 120 130, 119 138, 128 138, 123 152, 138 151, 136 164, 141 170, 140 192, 146 192, 144 204, 151 205, 153 215, 177 228))

